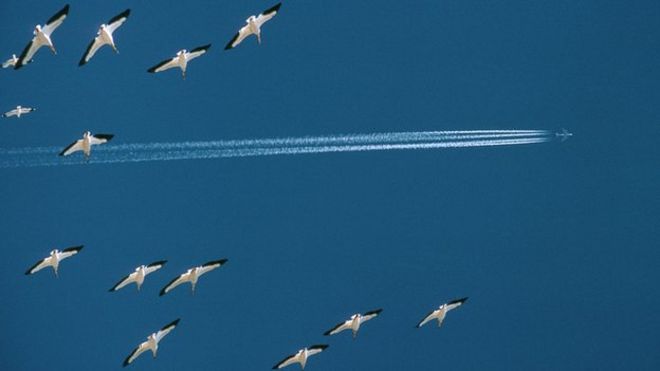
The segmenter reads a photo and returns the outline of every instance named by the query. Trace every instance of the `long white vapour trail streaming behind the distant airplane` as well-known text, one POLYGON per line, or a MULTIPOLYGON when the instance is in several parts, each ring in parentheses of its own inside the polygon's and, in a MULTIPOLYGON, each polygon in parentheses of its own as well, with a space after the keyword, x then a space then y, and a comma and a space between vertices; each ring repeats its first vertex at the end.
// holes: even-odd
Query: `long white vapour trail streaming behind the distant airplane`
POLYGON ((462 130, 175 143, 110 143, 94 147, 89 161, 76 155, 59 157, 57 153, 60 147, 26 147, 0 149, 0 168, 508 146, 543 143, 551 139, 552 136, 546 130, 462 130))

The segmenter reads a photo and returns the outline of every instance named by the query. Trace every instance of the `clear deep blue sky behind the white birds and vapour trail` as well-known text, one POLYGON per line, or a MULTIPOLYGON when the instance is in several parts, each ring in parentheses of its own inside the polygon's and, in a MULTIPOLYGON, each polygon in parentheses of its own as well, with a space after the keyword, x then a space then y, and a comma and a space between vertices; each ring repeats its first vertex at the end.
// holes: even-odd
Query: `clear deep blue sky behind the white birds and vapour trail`
MULTIPOLYGON (((0 169, 0 369, 310 370, 660 366, 657 1, 85 1, 2 70, 0 148, 419 130, 566 127, 565 143, 0 169), (107 47, 77 62, 126 8, 107 47), (147 68, 212 43, 179 71, 147 68), (51 272, 23 272, 84 244, 51 272), (228 258, 195 296, 169 279, 228 258), (107 290, 142 263, 146 281, 107 290), (414 325, 469 296, 443 328, 414 325), (357 340, 323 332, 383 308, 357 340), (293 368, 292 368, 293 369, 293 368)), ((64 5, 0 4, 2 57, 64 5)))

